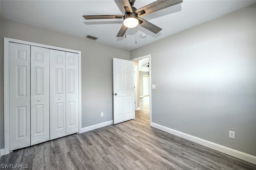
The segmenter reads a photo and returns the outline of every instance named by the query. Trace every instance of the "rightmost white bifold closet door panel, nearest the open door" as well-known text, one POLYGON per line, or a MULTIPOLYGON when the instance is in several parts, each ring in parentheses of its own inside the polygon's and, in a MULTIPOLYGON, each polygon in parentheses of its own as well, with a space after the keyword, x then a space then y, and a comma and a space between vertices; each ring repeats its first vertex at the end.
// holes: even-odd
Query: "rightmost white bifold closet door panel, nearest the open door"
POLYGON ((66 52, 66 135, 79 131, 78 67, 78 54, 66 52))

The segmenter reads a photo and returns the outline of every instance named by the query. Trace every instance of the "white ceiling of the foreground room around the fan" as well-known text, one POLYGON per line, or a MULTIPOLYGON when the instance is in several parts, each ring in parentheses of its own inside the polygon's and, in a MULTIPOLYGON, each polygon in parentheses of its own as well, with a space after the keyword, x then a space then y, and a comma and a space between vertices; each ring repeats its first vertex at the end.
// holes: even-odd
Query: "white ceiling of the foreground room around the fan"
MULTIPOLYGON (((139 9, 154 1, 136 0, 134 7, 139 9)), ((98 37, 98 43, 132 50, 254 3, 255 0, 184 0, 181 4, 142 17, 162 28, 158 34, 138 26, 128 29, 126 38, 116 37, 122 19, 85 20, 82 17, 124 14, 115 0, 1 0, 1 17, 84 39, 86 35, 92 35, 98 37), (147 37, 142 39, 141 34, 147 37)))

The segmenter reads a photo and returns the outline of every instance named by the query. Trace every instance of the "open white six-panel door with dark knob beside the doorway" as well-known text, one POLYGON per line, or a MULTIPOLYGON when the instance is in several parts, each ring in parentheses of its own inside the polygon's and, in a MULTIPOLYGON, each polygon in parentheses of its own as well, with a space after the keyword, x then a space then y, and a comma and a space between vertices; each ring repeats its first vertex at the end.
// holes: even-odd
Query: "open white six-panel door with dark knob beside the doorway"
POLYGON ((135 118, 134 62, 113 58, 114 124, 135 118))

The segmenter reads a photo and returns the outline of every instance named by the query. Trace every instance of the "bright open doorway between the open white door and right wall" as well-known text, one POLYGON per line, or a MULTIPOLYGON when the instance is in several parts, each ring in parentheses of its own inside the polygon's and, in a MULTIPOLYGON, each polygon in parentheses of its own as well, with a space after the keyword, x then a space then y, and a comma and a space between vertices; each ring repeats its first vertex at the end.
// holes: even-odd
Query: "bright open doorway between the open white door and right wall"
MULTIPOLYGON (((151 125, 151 59, 150 55, 131 59, 134 61, 135 113, 149 114, 151 125)), ((135 114, 136 117, 137 114, 135 114)))

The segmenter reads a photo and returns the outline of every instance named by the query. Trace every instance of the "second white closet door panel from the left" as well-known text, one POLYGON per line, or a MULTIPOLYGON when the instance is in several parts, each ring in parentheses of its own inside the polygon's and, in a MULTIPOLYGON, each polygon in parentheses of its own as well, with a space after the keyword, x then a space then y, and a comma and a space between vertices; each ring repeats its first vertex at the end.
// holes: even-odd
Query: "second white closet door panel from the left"
POLYGON ((50 49, 31 46, 31 145, 50 140, 50 49))

